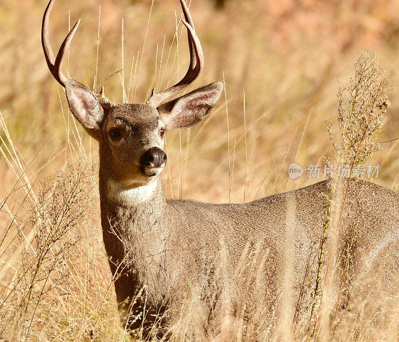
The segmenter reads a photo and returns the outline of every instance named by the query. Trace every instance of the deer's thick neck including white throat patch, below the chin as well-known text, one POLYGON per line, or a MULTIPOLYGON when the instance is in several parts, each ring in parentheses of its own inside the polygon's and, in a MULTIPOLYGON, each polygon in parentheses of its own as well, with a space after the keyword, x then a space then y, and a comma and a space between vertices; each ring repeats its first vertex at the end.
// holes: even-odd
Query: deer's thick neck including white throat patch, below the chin
POLYGON ((133 273, 146 270, 146 275, 136 277, 145 285, 145 279, 151 274, 148 265, 159 262, 155 259, 165 249, 169 227, 161 177, 155 176, 144 186, 120 182, 100 161, 100 202, 104 245, 111 270, 117 271, 120 264, 133 273))

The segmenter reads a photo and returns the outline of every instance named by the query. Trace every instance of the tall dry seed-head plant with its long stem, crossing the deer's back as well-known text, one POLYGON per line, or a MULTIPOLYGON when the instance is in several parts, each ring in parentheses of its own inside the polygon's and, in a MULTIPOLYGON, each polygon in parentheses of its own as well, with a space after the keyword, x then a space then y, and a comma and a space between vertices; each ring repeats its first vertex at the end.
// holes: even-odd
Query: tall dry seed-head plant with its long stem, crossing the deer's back
MULTIPOLYGON (((352 188, 352 177, 359 177, 362 174, 354 174, 354 166, 365 162, 373 153, 382 148, 377 141, 377 133, 385 124, 387 117, 387 108, 390 106, 388 95, 393 88, 390 84, 390 78, 386 71, 378 62, 379 57, 370 50, 358 52, 354 63, 355 78, 351 78, 347 83, 338 80, 338 132, 334 129, 333 122, 327 118, 327 132, 335 150, 334 161, 337 164, 333 179, 330 182, 330 193, 325 194, 327 200, 326 219, 324 223, 323 238, 321 240, 317 280, 315 284, 315 293, 310 315, 309 331, 313 336, 315 333, 317 316, 320 313, 328 312, 333 317, 333 327, 331 329, 330 339, 334 336, 334 321, 337 316, 338 307, 343 297, 348 296, 345 292, 345 283, 348 283, 349 268, 351 265, 351 251, 356 245, 358 235, 362 227, 357 226, 357 220, 361 213, 347 212, 345 206, 348 205, 348 194, 352 188), (345 174, 339 174, 343 166, 347 167, 345 174), (348 177, 342 180, 340 177, 348 177), (346 218, 344 218, 346 216, 346 218), (340 227, 342 222, 347 222, 345 227, 340 227), (341 230, 350 230, 350 241, 346 242, 347 249, 345 255, 332 260, 336 255, 337 245, 341 242, 337 237, 341 230), (327 256, 326 256, 327 254, 327 256), (344 263, 342 274, 335 274, 337 263, 344 263), (322 279, 322 277, 324 279, 322 279), (323 293, 329 292, 333 278, 340 278, 338 298, 335 300, 335 308, 321 306, 323 293), (329 312, 329 311, 333 312, 329 312)), ((325 164, 332 169, 331 161, 323 155, 325 164)), ((359 208, 361 197, 357 203, 352 203, 359 208)), ((327 295, 328 296, 328 295, 327 295)), ((330 301, 331 298, 326 299, 330 301)), ((326 315, 325 315, 326 316, 326 315)), ((329 323, 324 322, 324 325, 329 323)), ((322 325, 319 326, 319 328, 322 325)))

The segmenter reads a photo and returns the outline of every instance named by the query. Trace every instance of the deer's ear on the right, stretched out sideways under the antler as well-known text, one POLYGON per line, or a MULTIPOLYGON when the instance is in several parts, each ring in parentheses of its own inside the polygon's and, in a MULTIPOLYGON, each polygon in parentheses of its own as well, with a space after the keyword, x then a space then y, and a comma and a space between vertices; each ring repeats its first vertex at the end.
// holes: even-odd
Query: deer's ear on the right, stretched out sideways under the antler
POLYGON ((222 90, 222 83, 211 83, 159 106, 165 128, 186 128, 200 122, 216 104, 222 90))

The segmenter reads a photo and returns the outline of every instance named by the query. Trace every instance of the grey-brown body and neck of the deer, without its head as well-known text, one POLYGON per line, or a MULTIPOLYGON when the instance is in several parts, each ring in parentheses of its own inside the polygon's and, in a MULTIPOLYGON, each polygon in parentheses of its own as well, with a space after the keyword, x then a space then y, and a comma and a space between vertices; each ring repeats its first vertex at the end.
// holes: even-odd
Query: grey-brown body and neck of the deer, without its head
MULTIPOLYGON (((111 270, 118 272, 116 262, 116 265, 126 265, 128 271, 122 273, 129 273, 128 277, 115 282, 118 303, 129 305, 130 300, 145 288, 146 305, 158 315, 162 315, 164 306, 168 304, 170 313, 163 323, 169 325, 181 318, 184 299, 197 291, 200 300, 196 305, 201 308, 202 315, 198 321, 203 333, 213 336, 214 327, 226 319, 226 310, 228 315, 238 316, 245 297, 249 301, 248 310, 251 305, 258 304, 258 298, 245 294, 247 288, 243 283, 250 277, 248 270, 243 269, 241 281, 237 279, 237 265, 248 246, 253 252, 259 244, 261 253, 267 253, 260 286, 267 288, 262 294, 267 302, 262 305, 270 306, 271 296, 279 298, 287 264, 291 264, 291 272, 295 275, 290 299, 293 314, 306 276, 309 246, 319 242, 323 235, 327 207, 325 194, 329 192, 329 182, 247 204, 208 204, 166 200, 159 177, 155 180, 155 187, 143 190, 146 195, 139 196, 139 201, 136 201, 137 197, 133 200, 123 197, 122 201, 117 197, 120 202, 116 205, 116 198, 109 198, 109 194, 115 196, 115 192, 109 191, 109 187, 107 189, 108 181, 100 171, 102 225, 105 247, 111 257, 111 270), (118 238, 115 232, 109 233, 111 227, 118 227, 118 238), (294 257, 288 263, 285 260, 287 249, 294 257), (122 259, 132 262, 121 262, 122 259), (213 297, 209 298, 209 295, 213 297), (216 304, 212 303, 215 298, 216 304)), ((362 213, 360 222, 357 222, 361 233, 356 234, 356 252, 352 256, 356 266, 348 275, 350 286, 341 291, 362 288, 362 292, 356 295, 356 301, 362 303, 376 301, 376 288, 372 285, 364 288, 370 275, 377 275, 377 284, 383 285, 378 289, 380 295, 395 290, 398 276, 395 265, 399 263, 396 253, 399 250, 399 196, 369 182, 356 182, 344 211, 341 226, 345 229, 339 232, 337 255, 345 255, 356 210, 362 213), (360 194, 367 200, 362 201, 360 194), (376 215, 376 212, 385 211, 391 215, 376 215)), ((335 271, 337 279, 343 268, 335 271)), ((316 275, 317 263, 313 263, 308 275, 311 286, 303 303, 307 308, 312 304, 316 275)), ((336 280, 333 291, 337 298, 339 283, 336 280)), ((142 307, 143 303, 138 301, 137 308, 131 312, 140 311, 142 307)), ((262 310, 266 309, 263 307, 262 310)), ((272 313, 259 316, 268 318, 267 322, 271 324, 272 313)), ((131 328, 141 324, 137 321, 131 328)))

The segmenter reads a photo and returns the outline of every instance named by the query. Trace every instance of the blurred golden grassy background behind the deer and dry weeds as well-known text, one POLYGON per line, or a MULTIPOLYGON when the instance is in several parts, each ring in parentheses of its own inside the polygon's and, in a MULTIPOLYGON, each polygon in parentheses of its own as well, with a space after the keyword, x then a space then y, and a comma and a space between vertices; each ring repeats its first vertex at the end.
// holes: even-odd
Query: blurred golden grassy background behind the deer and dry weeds
MULTIPOLYGON (((6 279, 17 272, 17 228, 31 226, 24 207, 30 191, 77 155, 98 157, 97 144, 76 130, 63 88, 45 63, 40 29, 46 5, 0 3, 0 111, 9 132, 2 125, 2 294, 11 291, 6 279)), ((323 164, 323 153, 334 155, 324 119, 336 121, 335 78, 354 77, 356 50, 376 52, 392 83, 399 83, 399 0, 192 0, 190 9, 205 55, 194 87, 224 81, 226 91, 200 124, 166 134, 168 198, 242 203, 319 181, 306 173, 290 180, 288 165, 306 168, 323 164)), ((143 102, 154 86, 166 88, 187 70, 180 16, 178 0, 57 0, 50 42, 56 52, 68 26, 81 18, 64 70, 89 88, 103 82, 115 102, 143 102)), ((391 102, 379 137, 384 151, 368 163, 381 165, 376 183, 398 190, 399 89, 391 102)), ((101 250, 98 213, 91 231, 101 250)))

